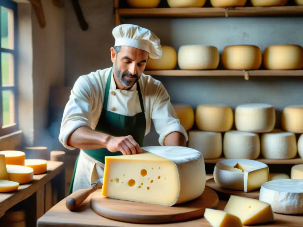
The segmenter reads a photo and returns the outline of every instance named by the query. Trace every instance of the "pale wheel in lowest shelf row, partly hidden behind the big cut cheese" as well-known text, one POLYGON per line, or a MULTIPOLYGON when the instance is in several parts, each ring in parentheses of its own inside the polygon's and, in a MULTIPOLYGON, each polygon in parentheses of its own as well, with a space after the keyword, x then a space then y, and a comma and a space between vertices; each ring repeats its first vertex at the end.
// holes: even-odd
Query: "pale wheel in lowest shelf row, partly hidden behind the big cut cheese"
POLYGON ((200 151, 204 159, 219 158, 222 154, 222 135, 218 132, 191 130, 188 132, 188 147, 200 151))

